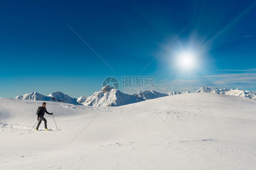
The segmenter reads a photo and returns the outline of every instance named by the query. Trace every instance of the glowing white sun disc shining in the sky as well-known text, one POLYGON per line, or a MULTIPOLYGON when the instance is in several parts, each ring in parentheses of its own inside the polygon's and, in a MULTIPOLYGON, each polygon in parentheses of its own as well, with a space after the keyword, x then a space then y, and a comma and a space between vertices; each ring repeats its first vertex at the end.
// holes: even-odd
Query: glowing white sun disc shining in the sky
POLYGON ((196 57, 192 52, 183 52, 177 56, 177 64, 182 70, 191 70, 196 66, 196 57))

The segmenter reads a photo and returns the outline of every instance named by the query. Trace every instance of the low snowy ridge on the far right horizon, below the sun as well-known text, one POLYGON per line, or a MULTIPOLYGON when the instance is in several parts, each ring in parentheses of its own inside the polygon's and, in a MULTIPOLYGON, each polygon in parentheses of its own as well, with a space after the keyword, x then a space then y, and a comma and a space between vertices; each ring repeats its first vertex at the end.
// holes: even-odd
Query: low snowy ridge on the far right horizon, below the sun
POLYGON ((249 98, 254 98, 256 99, 256 92, 253 91, 244 91, 241 89, 228 89, 228 88, 223 88, 223 89, 210 89, 209 87, 201 87, 198 91, 196 92, 211 92, 211 93, 217 93, 217 94, 226 94, 226 95, 231 95, 231 96, 240 96, 240 97, 249 97, 249 98))

